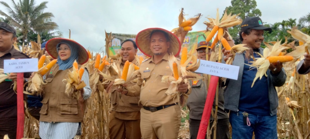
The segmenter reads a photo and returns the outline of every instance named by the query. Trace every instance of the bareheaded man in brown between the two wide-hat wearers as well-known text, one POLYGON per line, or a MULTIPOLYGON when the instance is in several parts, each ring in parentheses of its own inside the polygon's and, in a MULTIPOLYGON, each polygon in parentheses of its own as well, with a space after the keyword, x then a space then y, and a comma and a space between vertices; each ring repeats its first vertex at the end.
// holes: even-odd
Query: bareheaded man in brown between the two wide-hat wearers
MULTIPOLYGON (((124 63, 128 60, 135 65, 140 65, 136 60, 138 47, 135 41, 128 39, 124 40, 121 44, 122 59, 119 62, 120 67, 124 67, 124 63)), ((137 78, 137 77, 134 77, 137 78)), ((133 83, 127 84, 133 86, 133 83)), ((112 112, 110 113, 109 132, 110 139, 140 139, 140 110, 142 106, 138 105, 139 96, 131 97, 122 95, 117 92, 116 88, 112 89, 111 106, 112 112)))

